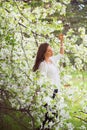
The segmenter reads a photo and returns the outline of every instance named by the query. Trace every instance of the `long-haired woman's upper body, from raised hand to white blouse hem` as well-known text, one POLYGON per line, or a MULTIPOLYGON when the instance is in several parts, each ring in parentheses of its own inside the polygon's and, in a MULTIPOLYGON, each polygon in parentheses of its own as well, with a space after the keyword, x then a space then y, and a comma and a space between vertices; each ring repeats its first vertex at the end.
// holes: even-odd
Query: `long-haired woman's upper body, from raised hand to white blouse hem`
POLYGON ((63 35, 59 35, 60 39, 60 53, 53 56, 53 50, 48 43, 43 43, 39 46, 36 56, 35 65, 33 71, 40 70, 41 73, 51 79, 52 83, 60 90, 60 76, 59 69, 57 67, 57 61, 64 54, 63 35))

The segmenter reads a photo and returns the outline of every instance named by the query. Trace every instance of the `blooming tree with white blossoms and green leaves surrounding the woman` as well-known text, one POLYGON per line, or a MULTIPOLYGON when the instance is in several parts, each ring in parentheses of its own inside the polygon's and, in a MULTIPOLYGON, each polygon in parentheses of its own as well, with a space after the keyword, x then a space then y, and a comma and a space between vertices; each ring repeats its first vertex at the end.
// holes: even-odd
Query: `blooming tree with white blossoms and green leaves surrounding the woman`
POLYGON ((70 75, 75 70, 87 71, 85 28, 79 27, 78 35, 70 28, 64 35, 65 56, 60 62, 62 89, 55 99, 52 98, 55 86, 39 72, 32 72, 41 43, 49 42, 55 54, 59 53, 58 34, 64 31, 63 17, 69 3, 69 0, 0 3, 0 111, 2 118, 22 117, 18 121, 24 129, 73 130, 76 126, 72 117, 81 121, 78 129, 87 128, 87 88, 73 86, 70 75), (67 83, 71 86, 68 89, 64 88, 67 83), (81 96, 77 110, 76 99, 81 96))

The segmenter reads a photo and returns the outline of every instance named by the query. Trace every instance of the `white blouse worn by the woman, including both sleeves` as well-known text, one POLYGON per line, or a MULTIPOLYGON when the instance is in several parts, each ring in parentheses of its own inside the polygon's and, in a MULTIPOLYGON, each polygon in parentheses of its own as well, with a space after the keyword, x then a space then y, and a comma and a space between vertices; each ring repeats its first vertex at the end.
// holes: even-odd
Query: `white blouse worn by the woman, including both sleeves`
POLYGON ((60 90, 60 75, 59 69, 57 67, 57 61, 59 61, 63 57, 62 54, 58 54, 56 56, 50 57, 51 62, 42 61, 39 65, 39 70, 42 74, 46 75, 49 79, 51 79, 52 83, 57 86, 58 90, 60 90))

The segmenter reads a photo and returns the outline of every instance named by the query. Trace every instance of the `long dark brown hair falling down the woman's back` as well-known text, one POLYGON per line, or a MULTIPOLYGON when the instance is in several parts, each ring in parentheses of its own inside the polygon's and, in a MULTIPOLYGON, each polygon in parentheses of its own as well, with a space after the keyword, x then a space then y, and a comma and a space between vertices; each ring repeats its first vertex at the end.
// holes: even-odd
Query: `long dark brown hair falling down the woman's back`
POLYGON ((39 68, 40 63, 42 61, 44 61, 44 58, 45 58, 44 55, 45 55, 45 52, 46 52, 48 46, 49 46, 48 43, 40 44, 40 46, 38 48, 38 51, 37 51, 35 64, 33 66, 33 71, 34 72, 39 68))

